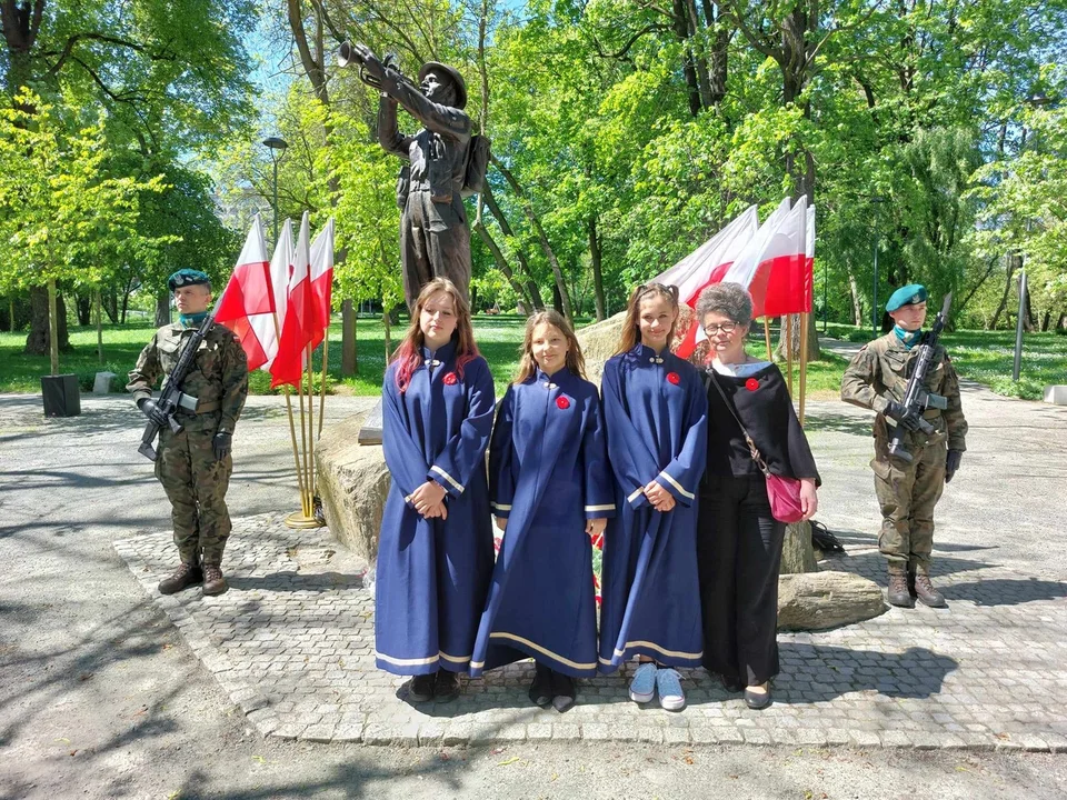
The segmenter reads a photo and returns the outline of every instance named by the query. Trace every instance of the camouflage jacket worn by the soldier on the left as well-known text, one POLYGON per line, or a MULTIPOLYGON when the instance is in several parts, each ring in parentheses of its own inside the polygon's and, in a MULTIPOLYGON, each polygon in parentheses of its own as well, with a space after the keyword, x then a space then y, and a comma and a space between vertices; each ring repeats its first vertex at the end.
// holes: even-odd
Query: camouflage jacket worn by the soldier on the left
MULTIPOLYGON (((185 328, 180 322, 156 331, 137 359, 126 387, 133 393, 134 402, 151 397, 160 377, 166 383, 178 366, 181 349, 195 332, 195 328, 185 328)), ((248 360, 229 328, 216 323, 200 342, 181 390, 198 400, 195 413, 185 409, 179 411, 183 426, 191 423, 193 430, 217 428, 233 432, 248 397, 248 360)))

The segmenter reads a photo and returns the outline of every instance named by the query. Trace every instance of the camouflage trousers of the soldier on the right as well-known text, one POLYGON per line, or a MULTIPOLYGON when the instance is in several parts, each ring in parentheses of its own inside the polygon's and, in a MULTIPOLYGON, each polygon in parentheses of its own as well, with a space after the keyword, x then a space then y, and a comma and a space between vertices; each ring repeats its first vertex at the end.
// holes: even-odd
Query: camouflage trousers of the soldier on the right
POLYGON ((878 549, 889 569, 911 567, 919 574, 930 570, 934 550, 934 507, 945 490, 943 441, 911 448, 914 460, 890 458, 889 442, 875 439, 875 494, 881 506, 878 549))

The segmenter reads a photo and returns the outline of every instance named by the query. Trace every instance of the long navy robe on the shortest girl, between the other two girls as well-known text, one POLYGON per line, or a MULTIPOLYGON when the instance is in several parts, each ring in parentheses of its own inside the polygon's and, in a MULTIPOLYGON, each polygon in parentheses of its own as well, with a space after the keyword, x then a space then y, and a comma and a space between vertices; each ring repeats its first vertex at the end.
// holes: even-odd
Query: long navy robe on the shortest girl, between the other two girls
POLYGON ((586 520, 615 516, 600 398, 561 369, 508 388, 489 448, 492 513, 508 520, 470 673, 534 657, 597 671, 597 604, 586 520))

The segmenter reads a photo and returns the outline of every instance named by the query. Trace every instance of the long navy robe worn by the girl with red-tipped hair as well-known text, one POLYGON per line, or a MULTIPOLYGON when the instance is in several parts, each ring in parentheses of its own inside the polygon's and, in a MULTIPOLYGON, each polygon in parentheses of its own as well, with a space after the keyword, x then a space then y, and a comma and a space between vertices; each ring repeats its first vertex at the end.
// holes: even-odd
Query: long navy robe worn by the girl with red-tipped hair
POLYGON ((397 389, 381 391, 382 449, 392 477, 381 519, 375 658, 395 674, 467 670, 492 572, 486 447, 492 376, 485 359, 456 369, 455 342, 431 352, 397 389), (408 497, 428 479, 447 494, 448 519, 425 519, 408 497))

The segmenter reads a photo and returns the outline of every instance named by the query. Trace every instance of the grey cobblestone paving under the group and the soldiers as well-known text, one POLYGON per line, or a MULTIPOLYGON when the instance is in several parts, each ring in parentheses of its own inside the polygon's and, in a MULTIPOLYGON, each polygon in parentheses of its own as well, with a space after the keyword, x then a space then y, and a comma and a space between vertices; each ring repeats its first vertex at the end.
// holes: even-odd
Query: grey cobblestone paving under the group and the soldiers
MULTIPOLYGON (((532 707, 531 662, 466 683, 446 704, 412 706, 406 679, 373 666, 373 590, 326 529, 279 514, 235 520, 230 591, 161 597, 169 532, 114 544, 146 591, 265 736, 310 742, 465 744, 615 740, 667 744, 1067 751, 1067 583, 936 553, 950 608, 890 609, 865 623, 781 633, 775 703, 750 711, 702 670, 684 674, 680 713, 640 707, 619 674, 579 683, 565 714, 532 707)), ((872 549, 825 569, 884 583, 872 549)))

